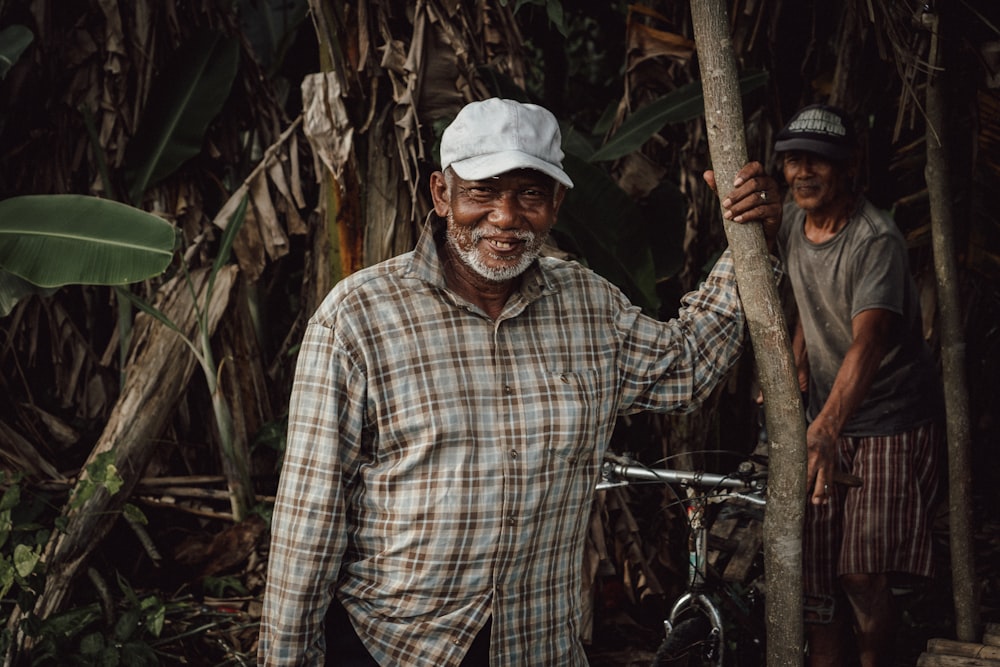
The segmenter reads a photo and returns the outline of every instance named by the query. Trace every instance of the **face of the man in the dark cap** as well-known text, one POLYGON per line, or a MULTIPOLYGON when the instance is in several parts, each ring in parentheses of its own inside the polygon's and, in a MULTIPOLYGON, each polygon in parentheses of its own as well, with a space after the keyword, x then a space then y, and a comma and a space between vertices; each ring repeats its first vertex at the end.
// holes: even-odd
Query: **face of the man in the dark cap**
POLYGON ((837 213, 852 198, 850 165, 831 162, 815 153, 788 151, 782 157, 782 170, 795 203, 807 213, 837 213))

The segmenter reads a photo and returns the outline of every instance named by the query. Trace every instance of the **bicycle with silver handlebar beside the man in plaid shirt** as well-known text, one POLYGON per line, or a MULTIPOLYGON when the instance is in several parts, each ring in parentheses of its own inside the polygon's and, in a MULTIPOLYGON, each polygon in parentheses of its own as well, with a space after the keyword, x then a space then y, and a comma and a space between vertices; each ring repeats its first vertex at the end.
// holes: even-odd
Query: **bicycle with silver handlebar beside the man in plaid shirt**
POLYGON ((665 637, 656 651, 654 667, 765 663, 759 537, 767 473, 761 463, 761 459, 751 457, 732 473, 716 474, 650 468, 628 457, 606 456, 598 488, 650 482, 688 491, 682 497, 674 490, 678 502, 686 506, 690 525, 687 586, 663 622, 665 637), (753 537, 749 546, 737 549, 739 558, 733 573, 729 573, 732 558, 721 562, 725 550, 710 544, 713 527, 721 523, 749 526, 753 537))

